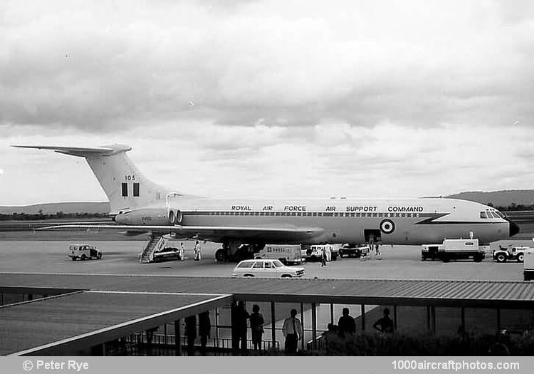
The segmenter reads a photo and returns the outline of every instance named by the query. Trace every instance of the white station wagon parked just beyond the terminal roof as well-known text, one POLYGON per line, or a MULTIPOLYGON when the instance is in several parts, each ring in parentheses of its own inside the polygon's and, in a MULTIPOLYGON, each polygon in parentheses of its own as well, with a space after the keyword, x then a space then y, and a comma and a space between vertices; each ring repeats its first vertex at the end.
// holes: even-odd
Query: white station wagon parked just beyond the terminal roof
POLYGON ((244 260, 232 271, 232 276, 257 276, 261 278, 298 278, 304 275, 300 266, 286 266, 279 260, 244 260))

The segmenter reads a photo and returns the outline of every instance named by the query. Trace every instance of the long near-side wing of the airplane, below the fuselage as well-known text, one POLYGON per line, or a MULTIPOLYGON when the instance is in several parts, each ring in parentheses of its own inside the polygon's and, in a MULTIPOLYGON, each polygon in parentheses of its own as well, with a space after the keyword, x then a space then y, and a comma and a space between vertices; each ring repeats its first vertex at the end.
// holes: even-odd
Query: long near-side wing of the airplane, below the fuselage
POLYGON ((323 234, 320 227, 295 227, 295 226, 268 226, 268 227, 229 227, 229 226, 148 226, 126 224, 62 224, 51 227, 41 227, 37 230, 63 231, 63 230, 110 230, 117 232, 132 232, 142 234, 145 232, 157 234, 173 234, 177 238, 195 238, 209 241, 218 241, 221 238, 239 239, 274 239, 280 241, 288 239, 306 239, 323 234))

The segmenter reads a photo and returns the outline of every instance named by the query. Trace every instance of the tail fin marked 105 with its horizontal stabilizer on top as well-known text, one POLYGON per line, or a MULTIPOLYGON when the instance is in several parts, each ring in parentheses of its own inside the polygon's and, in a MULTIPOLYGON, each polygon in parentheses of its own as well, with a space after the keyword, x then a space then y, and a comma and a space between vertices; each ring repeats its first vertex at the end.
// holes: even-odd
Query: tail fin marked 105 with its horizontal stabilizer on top
POLYGON ((126 152, 128 145, 106 145, 98 148, 53 147, 48 145, 14 145, 19 148, 53 150, 65 155, 85 157, 93 174, 110 200, 110 214, 164 202, 168 189, 156 185, 137 170, 126 152))

